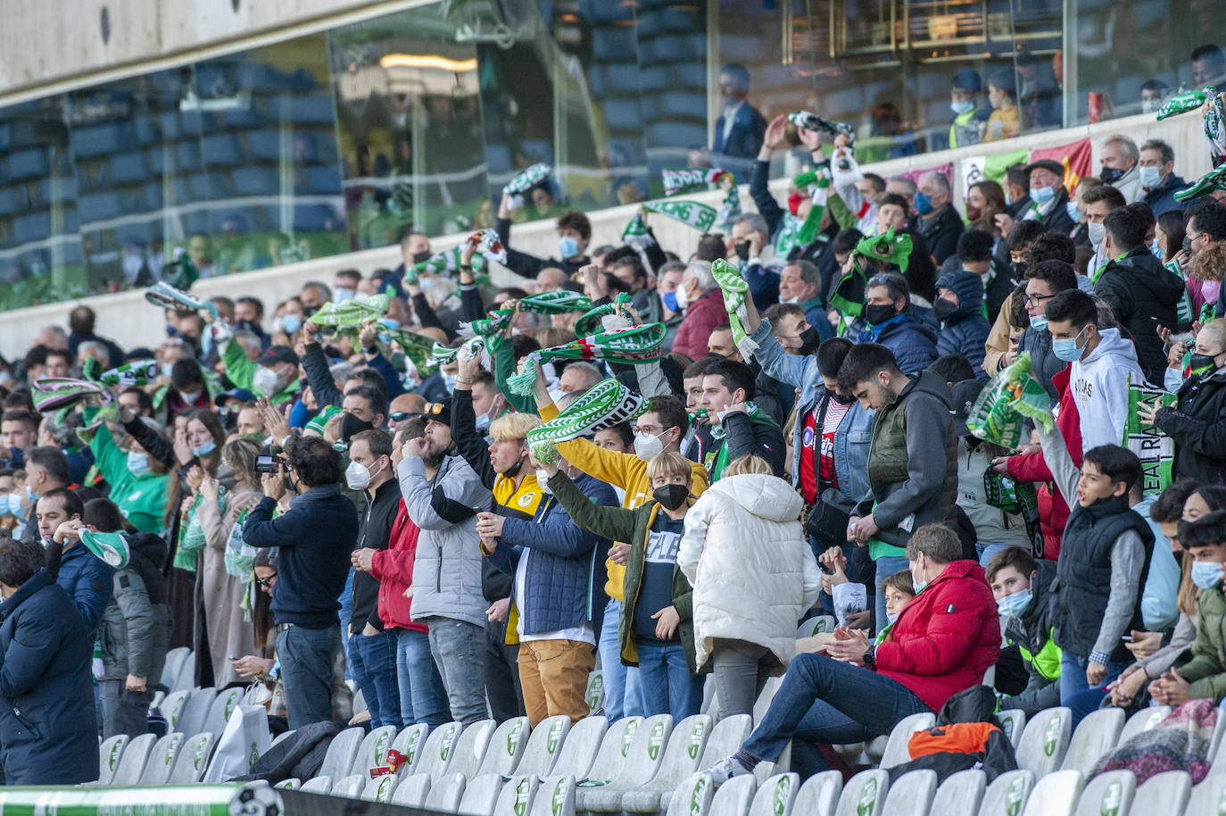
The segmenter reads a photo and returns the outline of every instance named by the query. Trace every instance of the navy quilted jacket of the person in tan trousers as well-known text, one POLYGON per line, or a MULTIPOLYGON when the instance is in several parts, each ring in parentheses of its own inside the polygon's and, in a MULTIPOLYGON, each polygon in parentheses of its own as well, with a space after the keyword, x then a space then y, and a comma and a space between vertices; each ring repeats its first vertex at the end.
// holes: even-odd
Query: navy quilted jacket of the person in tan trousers
MULTIPOLYGON (((580 474, 575 485, 595 504, 620 504, 612 487, 586 474, 580 474)), ((608 539, 580 529, 552 497, 532 520, 503 519, 503 536, 489 561, 514 575, 520 558, 528 558, 524 598, 515 595, 514 582, 511 588, 525 634, 580 626, 603 612, 608 604, 604 595, 608 548, 608 539)))

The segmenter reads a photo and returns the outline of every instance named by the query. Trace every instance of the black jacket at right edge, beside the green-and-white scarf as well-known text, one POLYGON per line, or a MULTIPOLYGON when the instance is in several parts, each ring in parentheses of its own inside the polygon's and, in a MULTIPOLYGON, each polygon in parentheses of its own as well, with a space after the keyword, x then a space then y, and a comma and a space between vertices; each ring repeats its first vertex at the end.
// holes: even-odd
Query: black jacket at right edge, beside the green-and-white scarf
POLYGON ((1193 377, 1172 407, 1159 409, 1156 425, 1175 439, 1175 479, 1226 485, 1226 368, 1193 377))

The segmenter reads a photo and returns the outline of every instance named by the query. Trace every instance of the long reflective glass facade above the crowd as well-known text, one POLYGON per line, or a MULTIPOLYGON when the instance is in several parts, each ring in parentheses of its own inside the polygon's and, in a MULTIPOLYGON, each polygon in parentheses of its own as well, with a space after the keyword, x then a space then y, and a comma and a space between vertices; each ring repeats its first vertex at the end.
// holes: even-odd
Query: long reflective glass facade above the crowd
POLYGON ((0 109, 0 308, 147 285, 180 250, 217 276, 490 226, 539 161, 515 221, 658 196, 664 167, 743 177, 756 118, 797 108, 852 124, 864 162, 939 150, 960 71, 959 145, 1129 115, 1148 80, 1193 86, 1215 6, 439 2, 58 94, 0 109))

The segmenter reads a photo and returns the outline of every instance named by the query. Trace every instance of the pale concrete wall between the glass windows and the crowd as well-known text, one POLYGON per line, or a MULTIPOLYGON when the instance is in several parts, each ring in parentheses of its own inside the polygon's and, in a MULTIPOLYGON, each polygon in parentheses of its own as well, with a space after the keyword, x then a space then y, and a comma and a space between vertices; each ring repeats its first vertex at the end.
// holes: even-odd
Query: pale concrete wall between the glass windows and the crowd
MULTIPOLYGON (((1137 141, 1138 145, 1146 139, 1166 140, 1175 147, 1176 172, 1186 179, 1199 178, 1210 169, 1204 135, 1200 131, 1200 118, 1197 115, 1182 115, 1167 119, 1166 121, 1155 121, 1152 115, 1139 115, 1095 125, 1056 130, 1029 136, 1021 141, 1008 140, 997 142, 998 148, 996 152, 1008 152, 1021 146, 1031 148, 1051 147, 1089 136, 1095 145, 1092 166, 1095 172, 1097 172, 1097 147, 1110 134, 1114 133, 1125 134, 1137 141)), ((991 155, 993 152, 991 147, 992 145, 976 145, 959 150, 891 160, 889 162, 869 164, 866 169, 889 177, 906 171, 926 169, 953 163, 955 179, 958 179, 961 178, 959 174, 959 162, 977 156, 991 155)), ((787 179, 777 179, 772 184, 772 189, 779 198, 786 195, 787 188, 787 179)), ((960 188, 960 185, 955 184, 955 188, 960 188)), ((956 189, 955 196, 959 204, 961 202, 961 195, 962 190, 956 189)), ((693 198, 717 204, 720 194, 709 193, 693 198)), ((742 193, 741 201, 742 206, 747 210, 753 210, 753 201, 748 191, 742 193)), ((590 212, 588 217, 592 221, 593 229, 592 245, 619 243, 622 231, 634 215, 634 206, 623 206, 590 212)), ((652 216, 651 225, 661 245, 666 249, 672 249, 683 256, 693 250, 696 233, 689 227, 684 227, 662 216, 652 216)), ((446 249, 463 238, 465 236, 462 234, 436 238, 434 241, 434 249, 446 249)), ((547 221, 515 227, 511 241, 516 249, 543 256, 557 255, 558 237, 553 231, 553 225, 547 221)), ((385 247, 348 255, 320 258, 255 272, 243 272, 230 277, 200 281, 192 288, 192 292, 205 297, 213 294, 226 294, 229 297, 253 294, 264 299, 271 312, 276 303, 298 292, 304 281, 319 279, 331 282, 332 274, 338 269, 356 268, 365 274, 380 266, 392 268, 398 263, 400 248, 385 247)), ((493 277, 500 285, 510 285, 520 280, 501 268, 495 270, 493 277)), ((114 337, 120 345, 148 345, 161 339, 162 315, 157 308, 145 301, 140 291, 103 294, 86 298, 83 302, 92 306, 98 313, 98 333, 114 337)), ((29 346, 31 337, 40 328, 48 324, 66 325, 69 309, 75 303, 55 303, 5 313, 2 319, 0 319, 0 352, 9 358, 25 353, 29 346)))

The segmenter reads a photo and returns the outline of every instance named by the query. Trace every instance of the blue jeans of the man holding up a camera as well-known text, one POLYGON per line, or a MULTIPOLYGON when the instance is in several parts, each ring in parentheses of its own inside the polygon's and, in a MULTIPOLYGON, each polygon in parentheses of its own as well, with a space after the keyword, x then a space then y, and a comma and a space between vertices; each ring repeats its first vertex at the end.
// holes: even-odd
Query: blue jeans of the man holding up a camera
POLYGON ((291 626, 277 632, 277 659, 286 690, 289 728, 332 719, 332 664, 341 643, 335 626, 308 629, 291 626))

